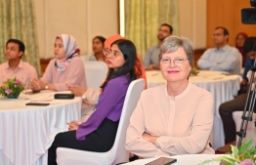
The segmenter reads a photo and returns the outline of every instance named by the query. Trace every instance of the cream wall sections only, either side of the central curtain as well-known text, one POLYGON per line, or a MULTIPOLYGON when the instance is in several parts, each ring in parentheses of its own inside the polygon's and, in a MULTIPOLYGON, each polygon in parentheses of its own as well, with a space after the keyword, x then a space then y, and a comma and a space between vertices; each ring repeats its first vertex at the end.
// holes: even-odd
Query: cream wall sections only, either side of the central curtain
MULTIPOLYGON (((72 34, 82 55, 92 54, 92 38, 119 32, 118 0, 41 0, 35 2, 40 59, 51 59, 56 35, 72 34)), ((206 46, 206 0, 180 0, 180 35, 195 48, 206 46), (191 28, 188 28, 191 27, 191 28)))

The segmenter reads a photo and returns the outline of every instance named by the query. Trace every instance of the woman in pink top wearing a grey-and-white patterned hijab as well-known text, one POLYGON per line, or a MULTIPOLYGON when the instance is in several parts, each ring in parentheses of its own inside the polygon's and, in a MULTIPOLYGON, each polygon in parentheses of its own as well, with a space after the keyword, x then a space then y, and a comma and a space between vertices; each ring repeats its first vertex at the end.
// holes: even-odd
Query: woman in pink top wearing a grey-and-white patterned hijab
POLYGON ((33 79, 33 91, 67 91, 70 86, 87 88, 84 64, 79 57, 80 50, 73 36, 58 35, 55 39, 55 59, 49 62, 41 80, 33 79))

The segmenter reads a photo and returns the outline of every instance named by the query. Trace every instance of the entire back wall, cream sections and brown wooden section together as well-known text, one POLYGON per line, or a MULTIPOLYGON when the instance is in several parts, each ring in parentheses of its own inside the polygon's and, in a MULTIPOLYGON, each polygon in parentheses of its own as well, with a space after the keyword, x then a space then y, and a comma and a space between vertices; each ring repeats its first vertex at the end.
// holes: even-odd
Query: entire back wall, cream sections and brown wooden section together
MULTIPOLYGON (((35 2, 39 54, 51 59, 57 34, 72 34, 81 54, 92 54, 92 38, 118 33, 119 0, 41 0, 35 2)), ((245 31, 256 35, 255 25, 240 21, 240 10, 249 8, 249 0, 179 0, 179 35, 192 39, 195 50, 213 47, 212 32, 218 25, 230 30, 230 45, 235 45, 235 34, 245 31)), ((200 51, 203 52, 203 51, 200 51)))

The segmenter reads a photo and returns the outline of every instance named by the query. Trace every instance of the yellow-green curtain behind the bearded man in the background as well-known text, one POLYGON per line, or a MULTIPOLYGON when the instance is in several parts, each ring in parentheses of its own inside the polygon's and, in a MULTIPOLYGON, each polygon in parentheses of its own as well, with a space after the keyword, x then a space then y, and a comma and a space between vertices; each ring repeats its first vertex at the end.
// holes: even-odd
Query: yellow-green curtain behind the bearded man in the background
POLYGON ((125 37, 134 42, 142 61, 149 47, 158 44, 160 24, 173 27, 179 34, 178 0, 124 0, 125 37))

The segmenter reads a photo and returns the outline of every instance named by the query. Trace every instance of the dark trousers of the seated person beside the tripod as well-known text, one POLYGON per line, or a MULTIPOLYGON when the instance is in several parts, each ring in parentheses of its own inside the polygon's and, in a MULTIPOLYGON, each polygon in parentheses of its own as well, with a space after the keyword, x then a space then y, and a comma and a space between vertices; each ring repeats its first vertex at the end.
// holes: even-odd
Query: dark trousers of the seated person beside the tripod
POLYGON ((235 141, 235 121, 233 119, 234 111, 243 111, 245 106, 247 94, 238 95, 234 100, 226 103, 222 103, 219 107, 219 112, 222 118, 225 143, 231 143, 235 141))

